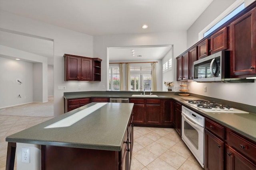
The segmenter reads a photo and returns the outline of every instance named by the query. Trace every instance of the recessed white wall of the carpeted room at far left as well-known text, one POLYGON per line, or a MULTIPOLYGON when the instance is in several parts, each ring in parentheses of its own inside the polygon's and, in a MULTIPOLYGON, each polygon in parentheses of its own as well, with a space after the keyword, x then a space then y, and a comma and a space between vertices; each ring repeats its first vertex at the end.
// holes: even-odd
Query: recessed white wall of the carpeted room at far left
POLYGON ((0 73, 0 108, 33 102, 33 63, 0 55, 0 73))

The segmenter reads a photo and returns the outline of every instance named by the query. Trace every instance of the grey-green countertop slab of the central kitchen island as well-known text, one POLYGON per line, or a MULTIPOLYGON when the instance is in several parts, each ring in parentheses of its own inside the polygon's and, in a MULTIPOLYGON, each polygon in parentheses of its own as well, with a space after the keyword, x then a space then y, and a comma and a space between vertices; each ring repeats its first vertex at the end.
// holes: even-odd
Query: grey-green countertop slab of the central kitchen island
POLYGON ((132 103, 90 103, 6 137, 7 142, 120 151, 132 103), (100 107, 98 108, 98 105, 100 107), (81 113, 95 111, 68 127, 45 127, 81 113), (86 111, 84 111, 86 110, 86 111), (84 111, 84 112, 82 112, 84 111), (76 114, 78 113, 78 114, 76 114))

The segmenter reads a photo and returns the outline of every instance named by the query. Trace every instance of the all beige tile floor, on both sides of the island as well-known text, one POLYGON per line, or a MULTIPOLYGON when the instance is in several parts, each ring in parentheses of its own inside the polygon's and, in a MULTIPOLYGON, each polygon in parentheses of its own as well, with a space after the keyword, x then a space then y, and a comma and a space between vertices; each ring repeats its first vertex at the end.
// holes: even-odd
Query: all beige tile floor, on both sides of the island
MULTIPOLYGON (((5 137, 51 118, 0 115, 0 170, 6 166, 5 137)), ((178 133, 170 128, 134 127, 131 170, 176 169, 202 169, 178 133)))

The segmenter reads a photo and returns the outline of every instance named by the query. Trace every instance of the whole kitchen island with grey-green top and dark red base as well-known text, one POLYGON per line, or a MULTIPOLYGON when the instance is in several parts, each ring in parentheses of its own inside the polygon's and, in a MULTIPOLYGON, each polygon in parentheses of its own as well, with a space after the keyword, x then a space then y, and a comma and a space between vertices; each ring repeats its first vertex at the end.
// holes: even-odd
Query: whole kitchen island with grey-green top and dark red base
POLYGON ((6 137, 6 169, 16 143, 41 146, 42 170, 129 169, 133 104, 90 103, 6 137))

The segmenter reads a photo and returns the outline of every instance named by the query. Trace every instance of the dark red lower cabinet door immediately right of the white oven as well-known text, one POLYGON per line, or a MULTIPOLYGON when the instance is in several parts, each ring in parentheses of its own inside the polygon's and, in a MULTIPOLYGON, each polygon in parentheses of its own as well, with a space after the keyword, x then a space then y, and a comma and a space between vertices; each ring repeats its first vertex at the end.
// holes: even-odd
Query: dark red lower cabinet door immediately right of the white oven
POLYGON ((204 140, 204 168, 206 170, 223 170, 224 142, 205 130, 204 140))

